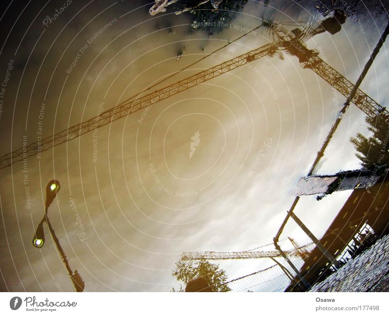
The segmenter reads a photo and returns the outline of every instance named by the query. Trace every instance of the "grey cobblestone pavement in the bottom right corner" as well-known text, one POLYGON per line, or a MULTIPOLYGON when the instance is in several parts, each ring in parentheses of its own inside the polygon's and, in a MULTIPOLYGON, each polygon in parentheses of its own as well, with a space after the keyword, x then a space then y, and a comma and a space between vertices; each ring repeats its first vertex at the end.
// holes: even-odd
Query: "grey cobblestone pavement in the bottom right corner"
POLYGON ((309 292, 387 292, 388 289, 389 235, 315 284, 309 292))

